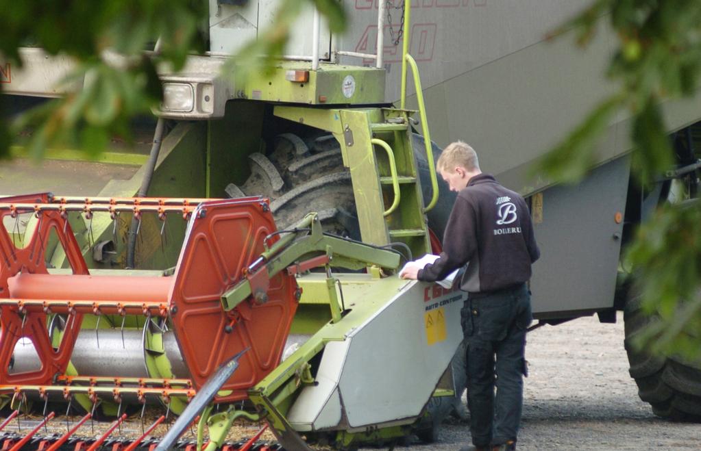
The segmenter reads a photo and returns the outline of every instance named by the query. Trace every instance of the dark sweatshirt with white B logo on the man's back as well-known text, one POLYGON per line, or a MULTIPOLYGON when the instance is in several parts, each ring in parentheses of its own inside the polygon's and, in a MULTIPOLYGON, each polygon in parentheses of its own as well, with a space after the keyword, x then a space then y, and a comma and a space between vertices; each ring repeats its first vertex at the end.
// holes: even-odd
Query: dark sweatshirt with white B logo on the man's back
POLYGON ((467 263, 461 289, 489 293, 531 278, 540 251, 523 197, 479 174, 458 193, 435 263, 418 271, 424 282, 442 280, 467 263))

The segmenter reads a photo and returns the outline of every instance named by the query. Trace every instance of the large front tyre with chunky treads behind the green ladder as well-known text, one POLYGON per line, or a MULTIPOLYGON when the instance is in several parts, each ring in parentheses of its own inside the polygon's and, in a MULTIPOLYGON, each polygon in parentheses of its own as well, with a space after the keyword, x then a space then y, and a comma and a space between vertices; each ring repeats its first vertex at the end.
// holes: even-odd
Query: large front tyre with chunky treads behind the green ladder
MULTIPOLYGON (((412 134, 411 145, 417 162, 423 202, 428 205, 433 191, 423 137, 412 134)), ((326 232, 360 240, 351 173, 343 167, 339 142, 329 134, 317 134, 303 139, 297 134, 283 133, 275 137, 271 147, 272 150, 266 155, 250 155, 251 175, 240 187, 229 184, 226 193, 230 197, 268 197, 275 223, 280 230, 290 228, 308 212, 316 211, 326 232)), ((437 160, 442 149, 432 143, 432 150, 433 157, 437 160)), ((442 238, 456 193, 449 189, 440 176, 437 179, 440 196, 427 216, 430 229, 442 238)), ((430 419, 421 422, 421 430, 418 432, 424 441, 433 442, 437 439, 438 425, 451 413, 463 419, 466 416, 461 401, 466 382, 465 351, 464 347, 460 348, 451 362, 456 395, 431 398, 428 401, 426 414, 430 419)))

